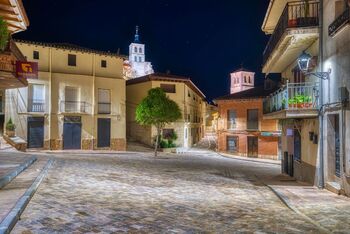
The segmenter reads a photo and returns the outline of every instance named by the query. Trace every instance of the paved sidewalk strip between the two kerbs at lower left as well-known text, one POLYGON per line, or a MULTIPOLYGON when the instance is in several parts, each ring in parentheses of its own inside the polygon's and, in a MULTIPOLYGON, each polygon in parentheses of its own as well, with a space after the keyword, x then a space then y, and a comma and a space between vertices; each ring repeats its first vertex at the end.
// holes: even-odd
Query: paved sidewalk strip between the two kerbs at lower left
POLYGON ((47 160, 47 158, 37 160, 33 165, 13 179, 11 183, 0 190, 0 223, 12 210, 26 190, 32 185, 41 169, 45 166, 47 160))

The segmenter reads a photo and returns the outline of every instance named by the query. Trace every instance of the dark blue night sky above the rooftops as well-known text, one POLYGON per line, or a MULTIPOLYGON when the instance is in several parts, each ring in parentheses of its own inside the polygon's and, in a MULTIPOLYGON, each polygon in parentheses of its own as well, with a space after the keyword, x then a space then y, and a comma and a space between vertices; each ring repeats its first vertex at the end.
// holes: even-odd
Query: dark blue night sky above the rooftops
POLYGON ((17 39, 128 54, 135 26, 156 72, 189 76, 210 100, 229 93, 244 67, 263 80, 268 0, 23 0, 30 26, 17 39))

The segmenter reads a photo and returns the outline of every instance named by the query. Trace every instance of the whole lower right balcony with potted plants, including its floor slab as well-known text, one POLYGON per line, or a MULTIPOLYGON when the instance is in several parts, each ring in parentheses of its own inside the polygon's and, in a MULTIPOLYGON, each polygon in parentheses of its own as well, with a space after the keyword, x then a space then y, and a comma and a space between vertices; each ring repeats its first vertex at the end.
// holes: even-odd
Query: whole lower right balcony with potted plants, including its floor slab
POLYGON ((317 117, 319 83, 287 83, 264 100, 264 119, 317 117))

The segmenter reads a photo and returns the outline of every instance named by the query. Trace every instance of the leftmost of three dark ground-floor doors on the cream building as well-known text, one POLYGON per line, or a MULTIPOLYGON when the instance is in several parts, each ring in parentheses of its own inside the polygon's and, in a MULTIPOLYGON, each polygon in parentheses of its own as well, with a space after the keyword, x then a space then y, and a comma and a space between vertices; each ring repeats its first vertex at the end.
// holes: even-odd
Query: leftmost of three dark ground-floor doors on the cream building
POLYGON ((44 117, 28 117, 28 148, 44 147, 44 117))

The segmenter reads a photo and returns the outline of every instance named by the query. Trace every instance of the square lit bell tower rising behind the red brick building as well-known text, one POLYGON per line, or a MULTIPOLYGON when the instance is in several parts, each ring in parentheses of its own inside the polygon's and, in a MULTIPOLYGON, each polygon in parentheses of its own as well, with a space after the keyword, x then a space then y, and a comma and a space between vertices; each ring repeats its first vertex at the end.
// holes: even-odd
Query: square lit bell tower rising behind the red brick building
POLYGON ((239 69, 231 73, 231 94, 254 88, 255 73, 239 69))

